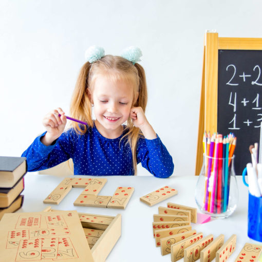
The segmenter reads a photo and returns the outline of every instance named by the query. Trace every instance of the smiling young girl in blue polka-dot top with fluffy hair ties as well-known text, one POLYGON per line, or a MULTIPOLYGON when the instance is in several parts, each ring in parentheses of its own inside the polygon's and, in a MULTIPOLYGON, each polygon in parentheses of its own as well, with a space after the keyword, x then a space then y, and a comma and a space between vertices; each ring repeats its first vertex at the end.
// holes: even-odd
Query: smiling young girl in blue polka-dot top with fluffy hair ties
POLYGON ((48 169, 72 158, 75 175, 134 175, 140 162, 156 177, 172 175, 172 157, 144 115, 145 73, 137 63, 141 55, 134 47, 122 57, 104 55, 96 46, 86 51, 70 114, 87 125, 71 122, 72 128, 64 132, 64 111, 57 108, 47 114, 43 119, 46 132, 22 154, 28 171, 48 169))

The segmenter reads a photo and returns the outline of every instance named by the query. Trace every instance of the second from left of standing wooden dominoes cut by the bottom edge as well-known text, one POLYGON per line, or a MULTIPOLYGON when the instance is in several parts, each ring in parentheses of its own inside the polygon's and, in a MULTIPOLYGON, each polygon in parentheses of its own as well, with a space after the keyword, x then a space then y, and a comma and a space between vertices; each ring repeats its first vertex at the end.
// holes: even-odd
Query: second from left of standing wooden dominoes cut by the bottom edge
POLYGON ((184 262, 193 262, 200 258, 200 252, 213 241, 213 235, 202 238, 195 244, 184 249, 184 262))

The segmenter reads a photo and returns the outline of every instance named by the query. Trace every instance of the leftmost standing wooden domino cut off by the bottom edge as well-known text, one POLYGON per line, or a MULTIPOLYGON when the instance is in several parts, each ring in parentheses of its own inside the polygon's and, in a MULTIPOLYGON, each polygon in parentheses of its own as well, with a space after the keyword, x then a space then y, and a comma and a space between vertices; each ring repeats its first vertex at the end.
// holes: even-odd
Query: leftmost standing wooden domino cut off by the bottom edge
POLYGON ((171 246, 171 261, 175 262, 184 256, 184 250, 203 238, 203 233, 185 238, 171 246))

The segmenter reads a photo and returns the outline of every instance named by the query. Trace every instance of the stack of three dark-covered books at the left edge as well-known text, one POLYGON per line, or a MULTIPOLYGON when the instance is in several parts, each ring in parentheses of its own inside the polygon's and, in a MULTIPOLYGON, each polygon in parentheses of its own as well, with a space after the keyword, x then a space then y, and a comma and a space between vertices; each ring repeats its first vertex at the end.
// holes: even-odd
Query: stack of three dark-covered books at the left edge
POLYGON ((22 207, 26 172, 25 157, 0 156, 0 219, 5 213, 13 213, 22 207))

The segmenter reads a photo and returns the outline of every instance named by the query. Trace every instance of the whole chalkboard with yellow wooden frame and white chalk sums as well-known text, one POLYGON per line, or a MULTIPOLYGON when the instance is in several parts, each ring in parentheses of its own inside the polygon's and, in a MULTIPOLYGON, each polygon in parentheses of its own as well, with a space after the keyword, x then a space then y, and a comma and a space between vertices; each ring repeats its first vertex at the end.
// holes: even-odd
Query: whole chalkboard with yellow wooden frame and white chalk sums
POLYGON ((237 137, 236 175, 251 162, 249 146, 259 142, 262 121, 261 70, 262 38, 205 33, 195 175, 203 163, 205 131, 237 137))

